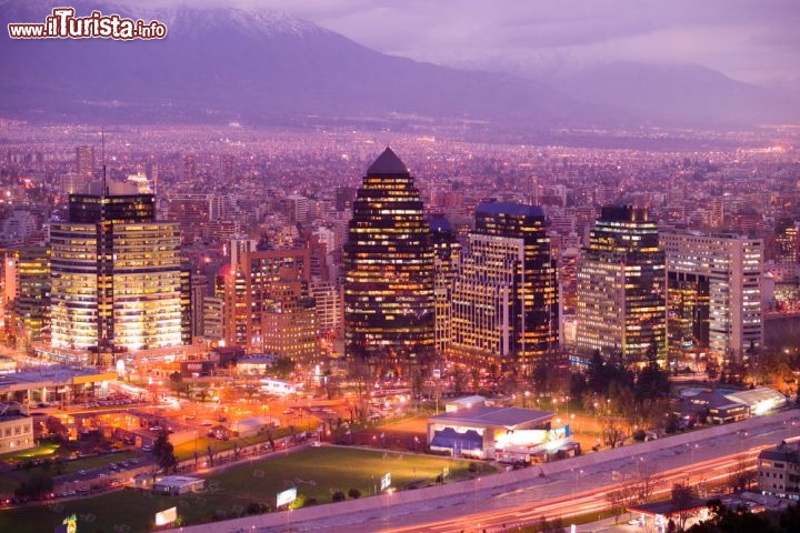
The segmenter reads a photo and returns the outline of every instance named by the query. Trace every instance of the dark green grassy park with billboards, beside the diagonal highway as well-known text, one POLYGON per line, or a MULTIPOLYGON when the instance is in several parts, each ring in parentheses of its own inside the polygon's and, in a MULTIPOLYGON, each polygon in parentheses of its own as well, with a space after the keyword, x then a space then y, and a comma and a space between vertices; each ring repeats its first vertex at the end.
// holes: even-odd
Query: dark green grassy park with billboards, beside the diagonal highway
POLYGON ((450 483, 493 473, 494 469, 489 463, 396 451, 308 447, 204 476, 206 490, 199 493, 163 496, 124 490, 47 506, 7 510, 0 513, 0 531, 53 531, 66 516, 76 514, 78 531, 82 533, 143 532, 153 529, 158 511, 173 506, 178 507, 182 524, 191 525, 273 509, 277 493, 292 486, 297 487, 298 504, 313 505, 331 503, 337 492, 346 499, 356 491, 361 497, 370 496, 380 490, 380 480, 387 473, 391 474, 391 487, 402 491, 434 484, 443 471, 448 472, 444 482, 450 483))

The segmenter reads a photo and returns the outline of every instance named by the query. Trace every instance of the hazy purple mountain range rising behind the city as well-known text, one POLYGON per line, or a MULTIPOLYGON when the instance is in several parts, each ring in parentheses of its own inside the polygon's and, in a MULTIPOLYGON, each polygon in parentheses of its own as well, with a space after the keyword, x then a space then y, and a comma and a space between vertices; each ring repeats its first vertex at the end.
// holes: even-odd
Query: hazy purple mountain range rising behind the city
MULTIPOLYGON (((43 22, 52 2, 0 1, 0 21, 43 22)), ((698 66, 614 63, 532 80, 370 50, 296 17, 234 8, 78 16, 159 20, 163 40, 22 40, 0 47, 0 114, 38 121, 512 127, 729 127, 797 122, 799 105, 698 66)), ((387 28, 391 31, 391 28, 387 28)))

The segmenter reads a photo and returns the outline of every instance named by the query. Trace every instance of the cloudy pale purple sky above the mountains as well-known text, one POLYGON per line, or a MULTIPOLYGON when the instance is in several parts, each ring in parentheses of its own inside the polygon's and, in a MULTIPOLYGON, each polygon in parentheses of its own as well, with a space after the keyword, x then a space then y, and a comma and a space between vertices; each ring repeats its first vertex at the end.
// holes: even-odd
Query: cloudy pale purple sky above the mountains
MULTIPOLYGON (((799 0, 199 0, 286 11, 369 48, 549 76, 597 62, 692 62, 800 90, 799 0)), ((162 0, 142 3, 163 4, 162 0)))

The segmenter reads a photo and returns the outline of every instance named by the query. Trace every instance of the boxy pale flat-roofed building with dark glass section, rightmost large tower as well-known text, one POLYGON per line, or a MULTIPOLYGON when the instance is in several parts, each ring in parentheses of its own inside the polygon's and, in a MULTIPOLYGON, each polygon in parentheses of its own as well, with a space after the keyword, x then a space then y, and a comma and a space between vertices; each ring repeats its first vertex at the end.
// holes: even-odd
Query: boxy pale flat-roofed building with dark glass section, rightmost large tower
POLYGON ((688 306, 684 323, 670 330, 673 349, 696 345, 741 360, 761 348, 763 241, 669 232, 661 235, 661 247, 667 255, 670 308, 681 301, 688 306))

